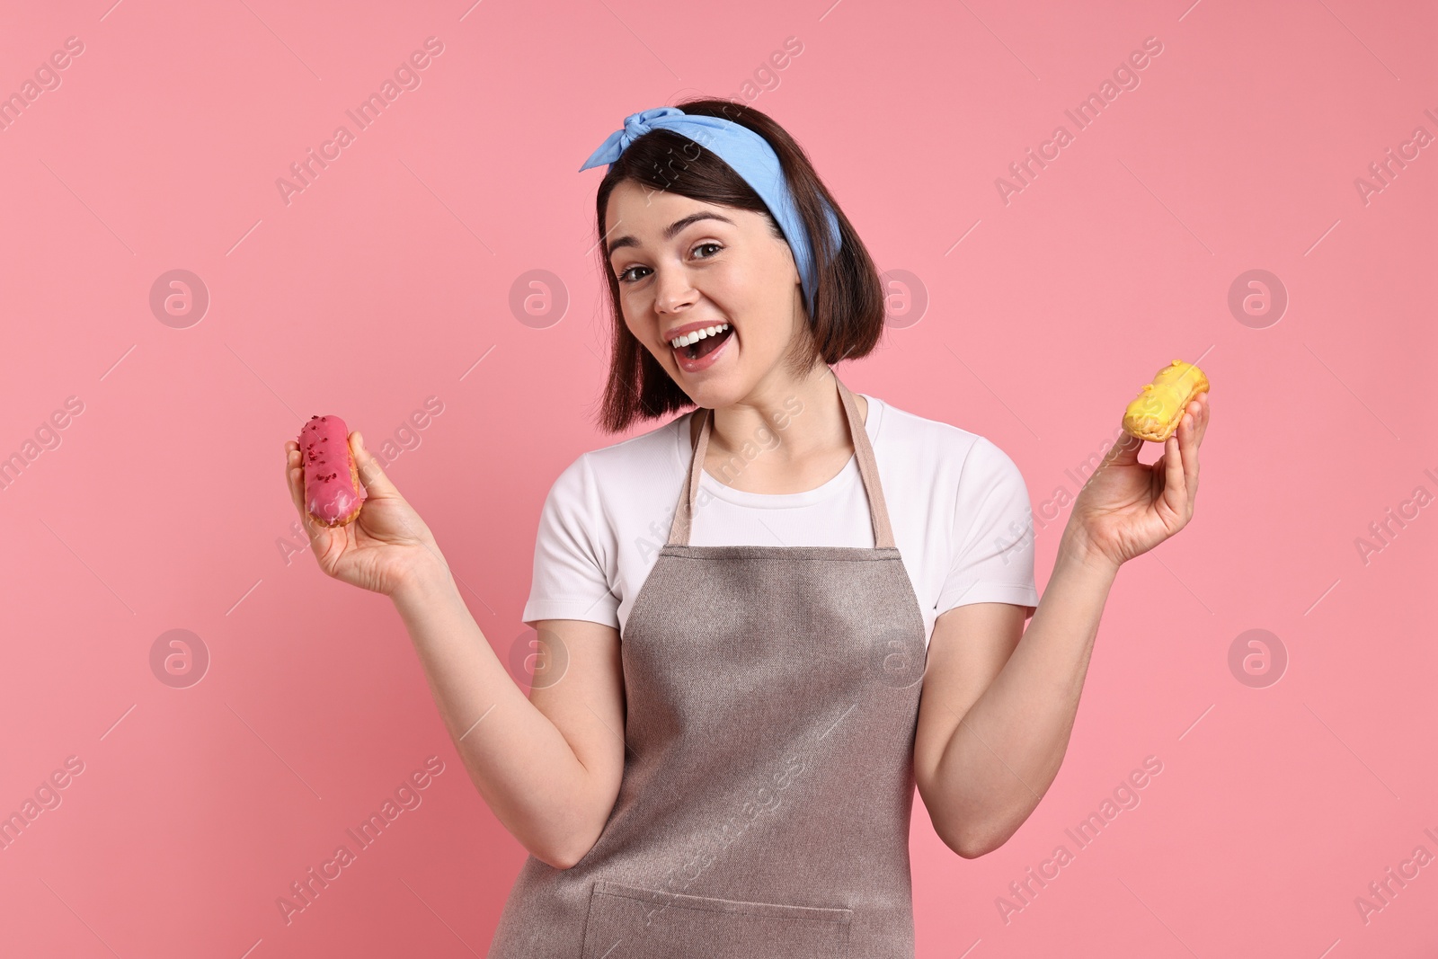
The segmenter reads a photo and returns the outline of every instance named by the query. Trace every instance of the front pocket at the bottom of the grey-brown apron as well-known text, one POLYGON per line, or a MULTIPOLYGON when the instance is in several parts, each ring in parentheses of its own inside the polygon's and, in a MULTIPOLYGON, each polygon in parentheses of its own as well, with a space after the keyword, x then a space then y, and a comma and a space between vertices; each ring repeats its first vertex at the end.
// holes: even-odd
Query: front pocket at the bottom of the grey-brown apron
POLYGON ((682 896, 600 880, 584 959, 844 959, 848 909, 682 896))

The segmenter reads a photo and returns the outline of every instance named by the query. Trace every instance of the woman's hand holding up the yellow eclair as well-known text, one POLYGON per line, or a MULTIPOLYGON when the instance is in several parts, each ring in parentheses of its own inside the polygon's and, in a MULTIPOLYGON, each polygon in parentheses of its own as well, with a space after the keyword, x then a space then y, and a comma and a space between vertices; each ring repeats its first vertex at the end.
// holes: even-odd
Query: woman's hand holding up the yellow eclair
POLYGON ((1183 529, 1198 496, 1198 447, 1208 427, 1208 391, 1191 400, 1163 454, 1139 463, 1143 440, 1125 434, 1084 483, 1064 538, 1114 568, 1183 529))

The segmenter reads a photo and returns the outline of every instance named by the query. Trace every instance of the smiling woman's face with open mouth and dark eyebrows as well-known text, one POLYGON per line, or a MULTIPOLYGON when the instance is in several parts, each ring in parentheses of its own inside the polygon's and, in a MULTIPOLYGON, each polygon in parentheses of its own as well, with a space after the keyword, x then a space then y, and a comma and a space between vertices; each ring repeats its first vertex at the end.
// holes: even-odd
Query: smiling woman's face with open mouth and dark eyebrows
POLYGON ((782 361, 804 334, 798 267, 769 223, 630 180, 610 194, 610 269, 624 325, 702 407, 729 405, 787 377, 782 361), (725 324, 692 345, 670 345, 725 324))

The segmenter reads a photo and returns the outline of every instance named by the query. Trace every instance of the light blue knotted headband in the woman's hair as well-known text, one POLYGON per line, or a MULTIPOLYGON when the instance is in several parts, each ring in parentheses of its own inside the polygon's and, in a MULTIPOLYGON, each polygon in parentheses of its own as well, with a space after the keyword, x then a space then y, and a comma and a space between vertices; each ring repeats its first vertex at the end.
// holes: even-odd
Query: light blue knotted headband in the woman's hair
MULTIPOLYGON (((677 106, 646 109, 626 116, 624 129, 615 129, 610 134, 580 170, 598 167, 601 162, 613 164, 620 158, 620 154, 628 150, 631 142, 649 131, 660 128, 687 137, 710 151, 729 164, 759 194, 764 204, 769 207, 775 223, 784 231, 784 239, 789 243, 794 263, 800 267, 800 279, 804 283, 804 299, 812 311, 815 270, 808 231, 794 206, 794 194, 789 193, 788 180, 785 180, 784 168, 779 165, 779 155, 774 152, 769 141, 748 127, 719 116, 686 114, 677 106)), ((838 250, 838 217, 834 216, 834 210, 827 201, 824 213, 828 219, 828 234, 834 250, 838 250)))

